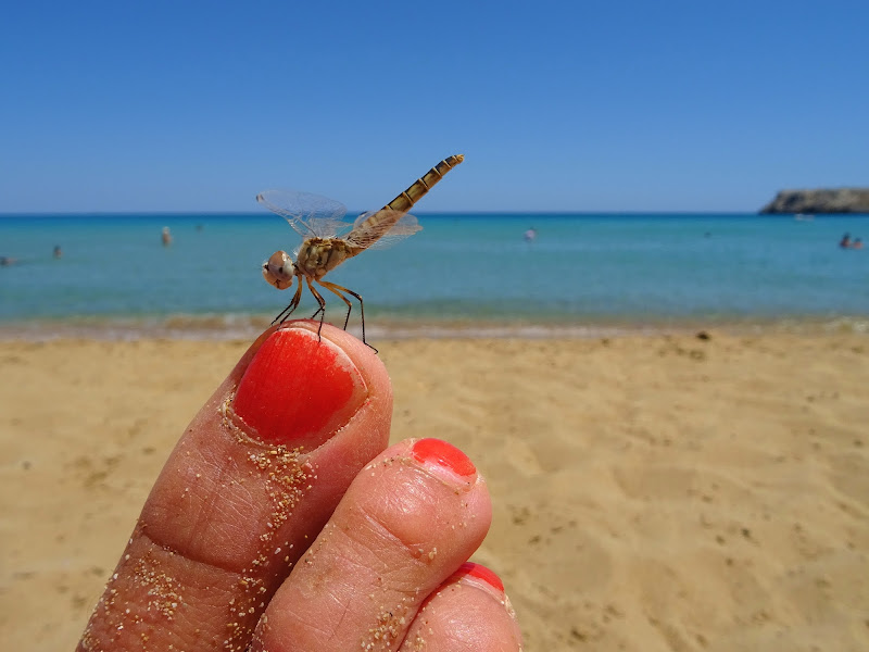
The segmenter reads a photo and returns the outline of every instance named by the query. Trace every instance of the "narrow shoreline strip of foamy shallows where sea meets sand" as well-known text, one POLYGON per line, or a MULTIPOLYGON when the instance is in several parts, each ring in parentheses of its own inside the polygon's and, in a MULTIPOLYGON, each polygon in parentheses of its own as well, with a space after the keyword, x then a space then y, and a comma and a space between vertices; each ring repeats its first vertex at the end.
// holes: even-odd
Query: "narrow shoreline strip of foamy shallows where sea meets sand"
MULTIPOLYGON (((328 322, 328 319, 327 319, 328 322)), ((257 336, 272 324, 266 315, 210 314, 153 317, 68 317, 0 321, 0 341, 148 339, 235 341, 257 336)), ((715 330, 729 335, 869 335, 869 315, 788 316, 780 318, 639 319, 430 319, 374 318, 368 339, 599 339, 629 336, 694 335, 715 330)), ((358 323, 348 331, 361 337, 358 323)))

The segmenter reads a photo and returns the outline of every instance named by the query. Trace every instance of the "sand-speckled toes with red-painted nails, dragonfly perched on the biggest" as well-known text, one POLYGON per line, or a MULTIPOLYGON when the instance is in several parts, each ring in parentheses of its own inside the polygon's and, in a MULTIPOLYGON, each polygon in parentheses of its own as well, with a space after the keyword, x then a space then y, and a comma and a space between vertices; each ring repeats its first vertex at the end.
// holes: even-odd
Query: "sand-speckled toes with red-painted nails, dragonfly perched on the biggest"
MULTIPOLYGON (((518 652, 492 506, 440 439, 388 448, 370 348, 269 328, 184 430, 78 650, 518 652)), ((449 437, 449 432, 444 432, 449 437)))

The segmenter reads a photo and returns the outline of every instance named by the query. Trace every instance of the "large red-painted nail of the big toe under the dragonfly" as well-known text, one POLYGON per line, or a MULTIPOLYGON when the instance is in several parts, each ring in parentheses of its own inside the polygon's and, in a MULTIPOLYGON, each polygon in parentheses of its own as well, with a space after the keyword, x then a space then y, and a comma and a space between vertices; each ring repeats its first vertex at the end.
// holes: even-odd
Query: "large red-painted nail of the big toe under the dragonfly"
POLYGON ((367 398, 348 355, 303 328, 275 330, 248 365, 232 411, 268 443, 316 448, 367 398))

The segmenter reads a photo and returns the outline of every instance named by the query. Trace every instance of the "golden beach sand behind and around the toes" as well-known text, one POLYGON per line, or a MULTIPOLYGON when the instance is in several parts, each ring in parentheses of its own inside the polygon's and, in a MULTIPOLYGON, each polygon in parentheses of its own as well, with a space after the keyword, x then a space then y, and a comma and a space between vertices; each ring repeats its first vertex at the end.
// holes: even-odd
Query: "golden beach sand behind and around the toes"
MULTIPOLYGON (((378 341, 489 481, 527 650, 869 650, 869 337, 378 341)), ((0 640, 71 650, 247 342, 0 342, 0 640)))

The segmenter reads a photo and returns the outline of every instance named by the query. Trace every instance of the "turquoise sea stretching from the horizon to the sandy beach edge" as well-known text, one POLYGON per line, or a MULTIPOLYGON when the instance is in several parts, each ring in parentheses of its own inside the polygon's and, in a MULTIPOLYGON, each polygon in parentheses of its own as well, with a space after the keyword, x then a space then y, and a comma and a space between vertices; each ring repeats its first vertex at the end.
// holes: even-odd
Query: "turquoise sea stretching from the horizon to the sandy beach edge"
MULTIPOLYGON (((369 339, 869 333, 869 249, 839 247, 869 240, 867 215, 417 216, 418 234, 329 273, 364 298, 369 339)), ((293 291, 266 284, 263 262, 300 241, 269 213, 0 215, 0 337, 247 337, 293 291)), ((324 296, 343 325, 344 304, 324 296)), ((293 316, 315 309, 305 290, 293 316)))

